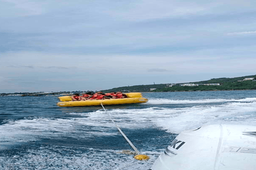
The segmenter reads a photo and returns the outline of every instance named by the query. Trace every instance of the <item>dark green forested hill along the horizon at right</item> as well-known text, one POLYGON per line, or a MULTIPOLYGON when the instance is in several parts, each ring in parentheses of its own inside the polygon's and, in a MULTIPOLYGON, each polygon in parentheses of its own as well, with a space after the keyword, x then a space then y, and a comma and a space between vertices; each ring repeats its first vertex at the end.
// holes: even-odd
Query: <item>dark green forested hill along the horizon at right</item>
POLYGON ((113 91, 149 92, 149 91, 203 91, 203 90, 245 90, 245 89, 256 90, 256 81, 252 81, 252 80, 242 81, 245 78, 254 78, 256 80, 256 75, 247 75, 244 77, 237 77, 237 78, 217 78, 217 79, 211 79, 211 80, 205 80, 205 81, 189 82, 194 84, 220 83, 221 86, 180 87, 180 84, 183 84, 183 83, 177 83, 174 86, 169 87, 171 83, 166 83, 166 84, 126 86, 126 87, 118 87, 118 88, 102 90, 102 91, 103 92, 113 92, 113 91))

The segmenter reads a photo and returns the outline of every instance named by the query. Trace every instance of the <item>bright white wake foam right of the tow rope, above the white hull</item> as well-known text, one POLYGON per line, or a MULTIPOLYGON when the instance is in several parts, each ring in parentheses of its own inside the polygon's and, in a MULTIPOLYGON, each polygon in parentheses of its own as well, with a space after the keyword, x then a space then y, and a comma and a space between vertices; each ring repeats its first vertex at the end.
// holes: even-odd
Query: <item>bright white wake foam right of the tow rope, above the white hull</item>
MULTIPOLYGON (((184 108, 113 109, 107 112, 121 128, 150 128, 156 125, 171 133, 195 129, 204 124, 256 125, 256 102, 241 103, 236 101, 235 103, 215 106, 203 105, 184 108)), ((104 114, 104 111, 91 113, 90 121, 106 121, 102 120, 104 114)), ((103 117, 109 120, 108 117, 103 117)), ((111 126, 111 124, 107 125, 111 126)))

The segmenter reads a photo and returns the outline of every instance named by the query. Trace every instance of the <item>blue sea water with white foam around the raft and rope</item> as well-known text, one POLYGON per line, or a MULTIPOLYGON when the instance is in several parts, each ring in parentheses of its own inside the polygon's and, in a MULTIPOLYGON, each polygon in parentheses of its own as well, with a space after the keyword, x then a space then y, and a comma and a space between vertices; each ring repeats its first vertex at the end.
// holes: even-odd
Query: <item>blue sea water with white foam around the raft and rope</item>
POLYGON ((182 131, 208 124, 256 125, 256 91, 143 93, 148 103, 59 107, 58 96, 0 97, 0 169, 149 169, 182 131))

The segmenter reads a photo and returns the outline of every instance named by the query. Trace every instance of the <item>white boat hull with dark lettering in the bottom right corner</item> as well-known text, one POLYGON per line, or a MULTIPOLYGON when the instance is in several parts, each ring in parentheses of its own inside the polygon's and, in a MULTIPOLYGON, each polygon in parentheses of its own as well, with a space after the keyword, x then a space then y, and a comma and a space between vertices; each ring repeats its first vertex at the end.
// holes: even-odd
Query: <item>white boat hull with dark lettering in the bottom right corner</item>
POLYGON ((207 125, 180 133, 152 170, 255 170, 256 126, 207 125))

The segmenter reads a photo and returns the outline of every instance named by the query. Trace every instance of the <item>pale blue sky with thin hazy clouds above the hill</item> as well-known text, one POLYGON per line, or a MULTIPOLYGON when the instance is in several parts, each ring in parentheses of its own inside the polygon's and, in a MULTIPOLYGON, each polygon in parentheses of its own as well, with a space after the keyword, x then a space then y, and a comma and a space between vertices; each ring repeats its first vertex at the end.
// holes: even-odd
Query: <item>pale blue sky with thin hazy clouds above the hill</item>
POLYGON ((256 74, 256 1, 1 0, 0 93, 256 74))

